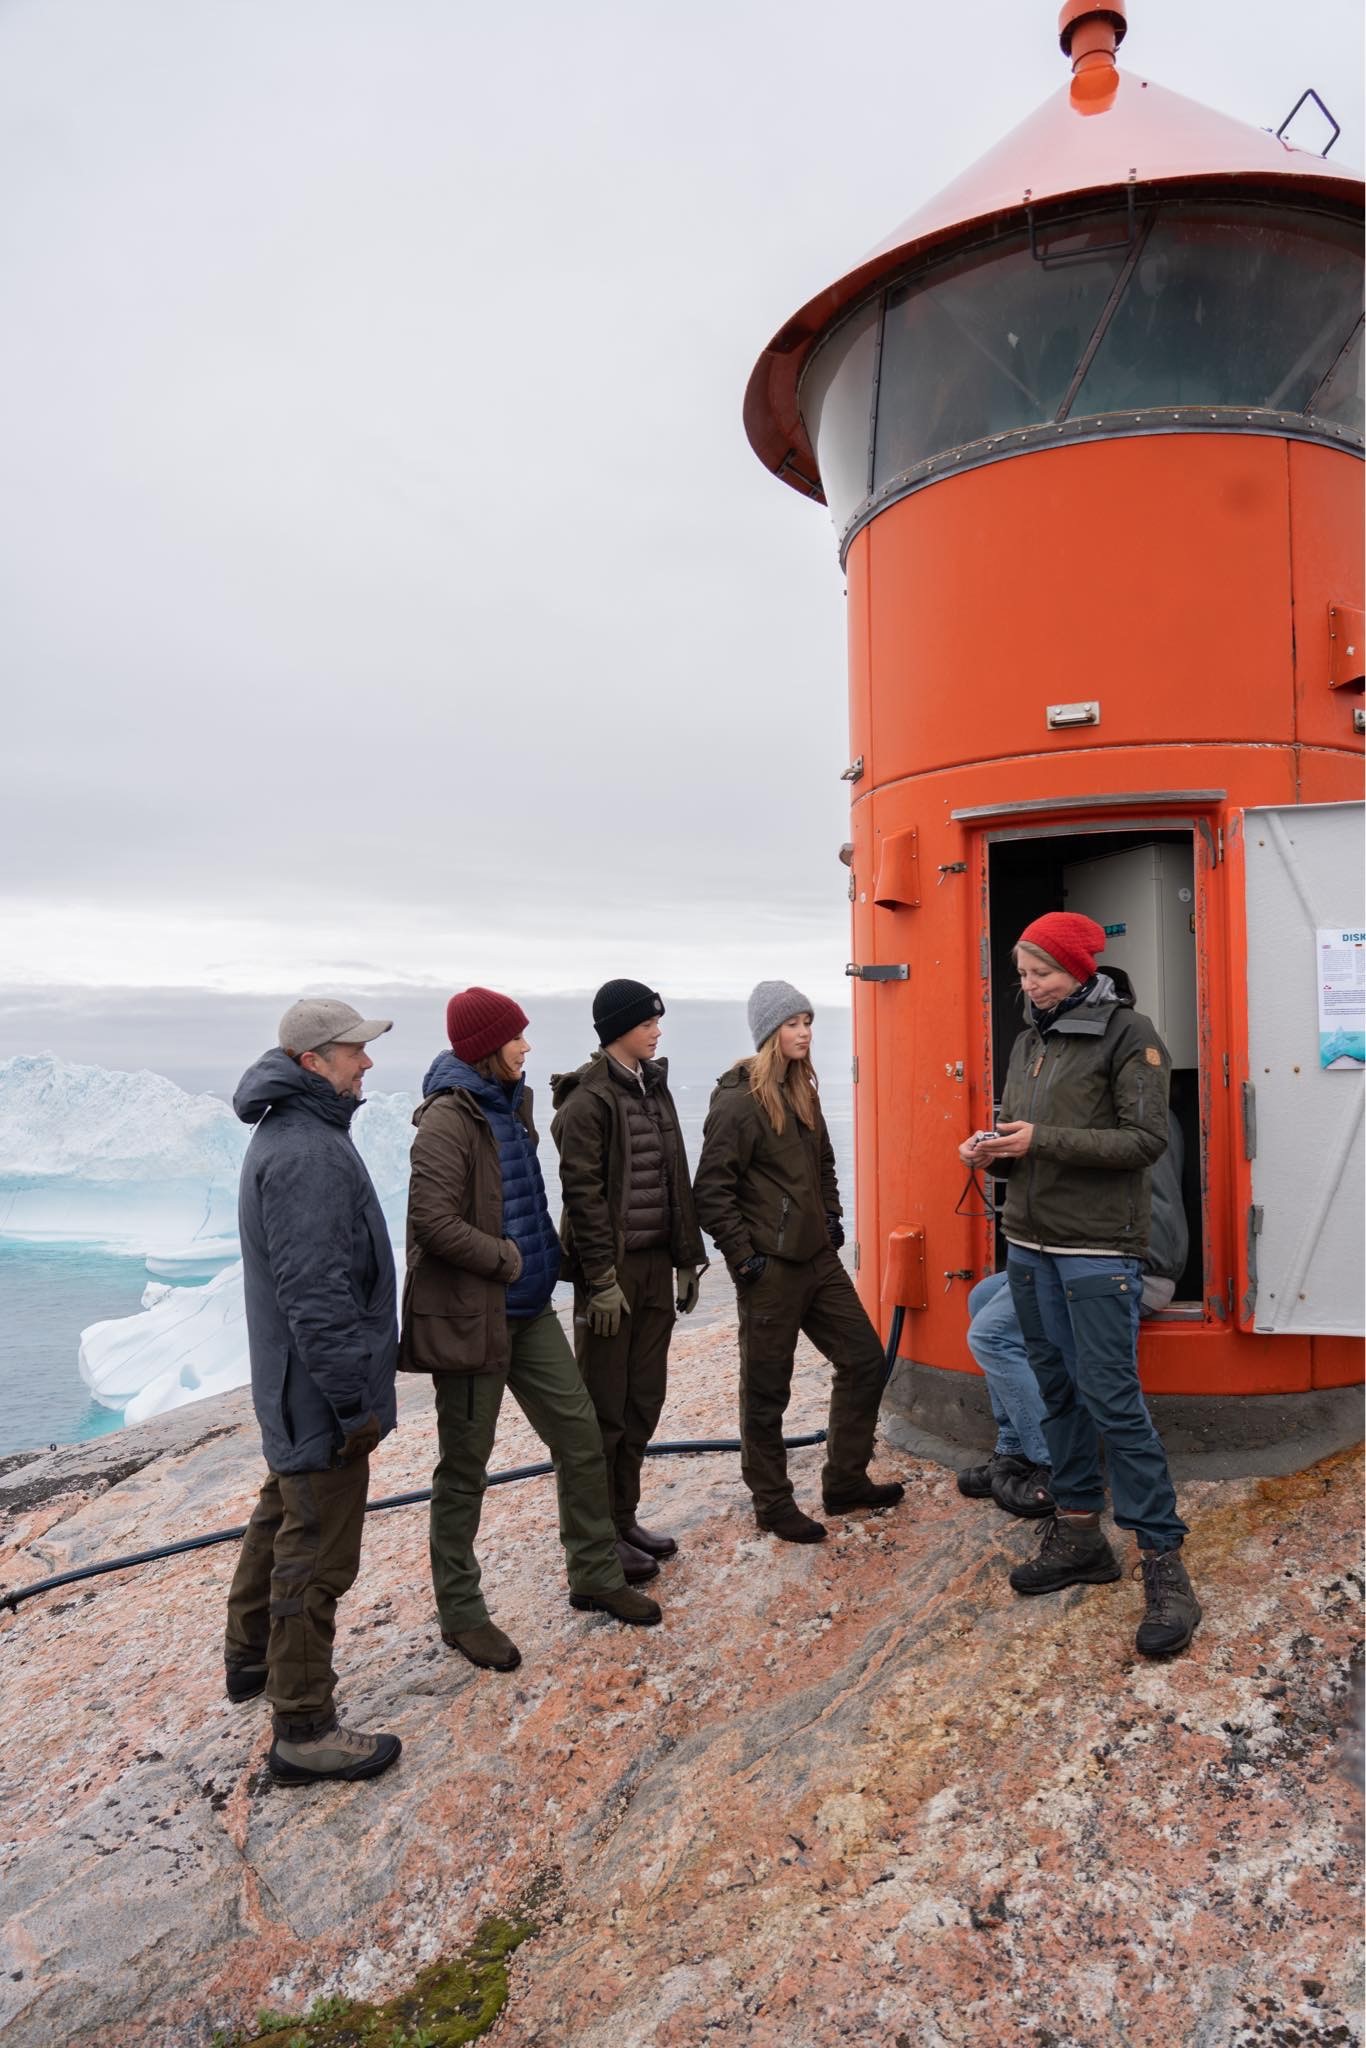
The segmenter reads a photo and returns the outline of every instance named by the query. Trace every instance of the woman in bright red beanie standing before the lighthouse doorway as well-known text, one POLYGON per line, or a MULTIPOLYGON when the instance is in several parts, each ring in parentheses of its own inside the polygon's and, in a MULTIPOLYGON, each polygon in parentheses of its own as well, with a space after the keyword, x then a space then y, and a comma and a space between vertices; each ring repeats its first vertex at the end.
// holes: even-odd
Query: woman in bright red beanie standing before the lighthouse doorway
POLYGON ((1044 1397, 1055 1513, 1018 1565, 1018 1593, 1120 1577, 1100 1528, 1106 1446, 1114 1520, 1135 1532, 1145 1591, 1137 1649, 1173 1657, 1200 1606, 1182 1563, 1167 1456, 1139 1386, 1141 1260, 1151 1167, 1167 1149, 1167 1051, 1130 995, 1098 973, 1106 934, 1049 911, 1024 928, 1016 969, 1026 1028, 1016 1038, 993 1133, 958 1147, 1006 1180, 1006 1270, 1044 1397))

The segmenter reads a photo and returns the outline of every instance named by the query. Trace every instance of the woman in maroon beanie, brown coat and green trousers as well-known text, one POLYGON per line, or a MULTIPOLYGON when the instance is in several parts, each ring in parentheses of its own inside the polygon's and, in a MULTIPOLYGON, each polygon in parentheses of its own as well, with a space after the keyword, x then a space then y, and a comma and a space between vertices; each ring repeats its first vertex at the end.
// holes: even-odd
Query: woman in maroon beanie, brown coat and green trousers
POLYGON ((432 1061, 414 1112, 399 1339, 399 1366, 430 1372, 436 1389, 430 1554, 442 1640, 494 1671, 522 1661, 489 1618, 475 1559, 504 1389, 555 1462, 569 1604, 659 1620, 623 1577, 598 1417, 551 1307, 559 1235, 522 1079, 524 1032, 526 1012, 496 989, 465 989, 446 1006, 451 1051, 432 1061))

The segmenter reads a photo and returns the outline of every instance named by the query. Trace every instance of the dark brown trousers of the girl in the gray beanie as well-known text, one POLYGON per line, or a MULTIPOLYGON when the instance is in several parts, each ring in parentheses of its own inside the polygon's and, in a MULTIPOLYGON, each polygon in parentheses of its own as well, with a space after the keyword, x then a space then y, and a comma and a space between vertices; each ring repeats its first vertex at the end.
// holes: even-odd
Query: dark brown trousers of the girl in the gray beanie
POLYGON ((829 1423, 821 1491, 846 1493, 868 1470, 883 1405, 883 1346, 834 1251, 813 1260, 768 1260, 739 1286, 739 1470, 764 1518, 793 1499, 782 1417, 793 1393, 797 1337, 829 1358, 829 1423))

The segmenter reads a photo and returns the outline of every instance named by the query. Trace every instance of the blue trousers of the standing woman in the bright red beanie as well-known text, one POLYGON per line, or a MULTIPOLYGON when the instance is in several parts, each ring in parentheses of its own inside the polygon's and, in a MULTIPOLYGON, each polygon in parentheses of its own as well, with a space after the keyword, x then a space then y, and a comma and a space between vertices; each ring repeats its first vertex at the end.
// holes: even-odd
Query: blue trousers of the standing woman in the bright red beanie
POLYGON ((1186 1524, 1176 1511, 1167 1454, 1139 1386, 1139 1262, 1063 1257, 1012 1245, 1006 1272, 1044 1397, 1053 1499, 1077 1513, 1106 1505, 1104 1440, 1114 1520, 1133 1530, 1145 1550, 1176 1550, 1186 1524))

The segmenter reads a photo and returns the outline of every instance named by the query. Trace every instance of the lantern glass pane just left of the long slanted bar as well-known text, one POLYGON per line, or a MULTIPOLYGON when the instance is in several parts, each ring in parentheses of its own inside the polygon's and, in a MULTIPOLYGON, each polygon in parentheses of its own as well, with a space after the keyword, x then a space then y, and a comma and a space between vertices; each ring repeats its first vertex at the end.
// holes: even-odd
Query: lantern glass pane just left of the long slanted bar
POLYGON ((973 250, 887 299, 877 483, 1053 420, 1124 260, 1126 215, 973 250), (1063 260, 1059 260, 1063 258, 1063 260))

